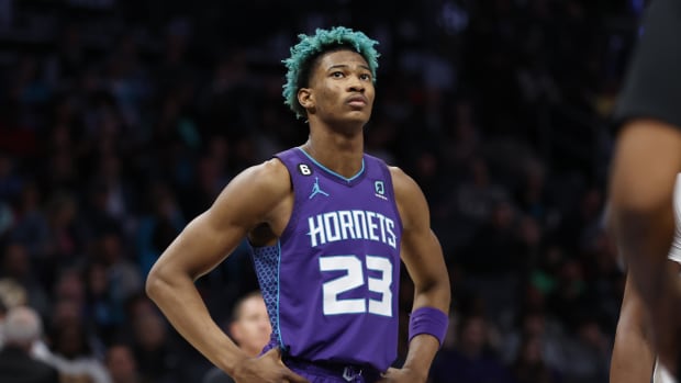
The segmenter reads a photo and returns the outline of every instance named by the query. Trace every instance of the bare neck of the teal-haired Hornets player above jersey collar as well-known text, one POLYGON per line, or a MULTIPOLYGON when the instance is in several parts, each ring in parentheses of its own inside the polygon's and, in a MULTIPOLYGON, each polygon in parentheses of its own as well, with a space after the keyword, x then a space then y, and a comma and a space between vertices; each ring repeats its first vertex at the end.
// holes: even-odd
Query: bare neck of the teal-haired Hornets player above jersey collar
POLYGON ((301 148, 317 162, 343 177, 354 177, 361 169, 362 135, 311 133, 310 138, 301 148))

